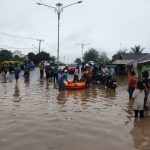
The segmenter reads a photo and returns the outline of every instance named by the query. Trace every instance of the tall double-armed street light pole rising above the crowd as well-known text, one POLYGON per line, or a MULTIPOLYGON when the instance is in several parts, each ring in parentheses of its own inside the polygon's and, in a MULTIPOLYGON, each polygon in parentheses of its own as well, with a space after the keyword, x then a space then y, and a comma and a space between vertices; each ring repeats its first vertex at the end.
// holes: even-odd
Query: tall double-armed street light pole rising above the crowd
POLYGON ((57 13, 57 16, 58 16, 58 44, 57 44, 57 62, 59 62, 59 23, 60 23, 60 15, 61 15, 61 12, 63 11, 64 8, 66 7, 70 7, 72 5, 75 5, 75 4, 80 4, 82 3, 82 1, 78 1, 76 3, 72 3, 72 4, 69 4, 69 5, 66 5, 64 7, 62 7, 63 4, 61 3, 57 3, 56 4, 56 7, 53 7, 53 6, 50 6, 50 5, 46 5, 45 3, 37 3, 38 5, 43 5, 43 6, 46 6, 46 7, 49 7, 49 8, 52 8, 54 9, 54 11, 57 13))

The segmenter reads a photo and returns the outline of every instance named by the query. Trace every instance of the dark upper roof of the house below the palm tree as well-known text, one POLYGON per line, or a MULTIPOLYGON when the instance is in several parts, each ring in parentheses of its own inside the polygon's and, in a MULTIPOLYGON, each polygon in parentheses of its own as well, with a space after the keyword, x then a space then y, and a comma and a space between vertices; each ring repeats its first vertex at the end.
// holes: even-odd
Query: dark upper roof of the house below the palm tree
POLYGON ((148 53, 123 53, 121 54, 121 57, 123 60, 137 60, 139 58, 145 57, 146 55, 148 55, 148 53))

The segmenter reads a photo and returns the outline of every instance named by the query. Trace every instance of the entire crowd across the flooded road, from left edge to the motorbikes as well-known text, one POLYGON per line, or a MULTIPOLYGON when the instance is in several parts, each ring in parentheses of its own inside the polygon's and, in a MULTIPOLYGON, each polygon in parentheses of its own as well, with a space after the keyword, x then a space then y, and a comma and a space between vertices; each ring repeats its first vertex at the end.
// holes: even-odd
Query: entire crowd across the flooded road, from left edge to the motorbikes
MULTIPOLYGON (((3 75, 4 80, 6 80, 6 74, 9 71, 10 73, 13 71, 15 74, 16 82, 18 82, 19 78, 19 71, 20 65, 15 64, 12 65, 11 63, 9 65, 5 63, 0 64, 0 74, 3 75), (11 70, 11 71, 10 71, 11 70)), ((28 79, 30 76, 30 67, 28 61, 24 62, 24 77, 25 79, 28 79)), ((68 73, 68 66, 65 66, 65 68, 60 69, 57 64, 54 64, 54 66, 44 65, 44 62, 39 63, 39 70, 40 70, 40 79, 44 79, 46 77, 46 80, 53 81, 54 84, 59 85, 59 89, 65 89, 64 81, 67 81, 67 73, 68 73), (45 76, 44 76, 45 74, 45 76)), ((86 82, 87 86, 89 87, 90 83, 98 83, 111 88, 113 85, 113 77, 115 76, 115 70, 112 67, 106 67, 103 65, 90 65, 90 64, 84 64, 84 65, 77 65, 74 76, 73 76, 73 82, 86 82)))

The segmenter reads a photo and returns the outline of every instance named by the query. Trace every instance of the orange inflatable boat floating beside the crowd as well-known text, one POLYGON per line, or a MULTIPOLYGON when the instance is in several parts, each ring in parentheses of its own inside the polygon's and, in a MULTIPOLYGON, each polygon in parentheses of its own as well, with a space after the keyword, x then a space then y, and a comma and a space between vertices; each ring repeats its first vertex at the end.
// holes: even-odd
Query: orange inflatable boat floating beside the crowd
POLYGON ((75 89, 84 89, 87 88, 88 85, 85 82, 76 82, 69 80, 68 82, 65 82, 65 86, 68 90, 75 90, 75 89))

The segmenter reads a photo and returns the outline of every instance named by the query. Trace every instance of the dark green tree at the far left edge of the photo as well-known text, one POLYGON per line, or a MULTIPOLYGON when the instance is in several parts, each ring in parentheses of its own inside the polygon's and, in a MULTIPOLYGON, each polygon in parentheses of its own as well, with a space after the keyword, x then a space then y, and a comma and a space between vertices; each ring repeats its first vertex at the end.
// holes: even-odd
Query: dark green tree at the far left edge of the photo
POLYGON ((6 49, 0 50, 0 60, 1 61, 10 61, 12 59, 12 53, 11 51, 8 51, 6 49))

